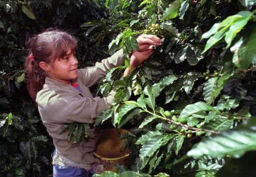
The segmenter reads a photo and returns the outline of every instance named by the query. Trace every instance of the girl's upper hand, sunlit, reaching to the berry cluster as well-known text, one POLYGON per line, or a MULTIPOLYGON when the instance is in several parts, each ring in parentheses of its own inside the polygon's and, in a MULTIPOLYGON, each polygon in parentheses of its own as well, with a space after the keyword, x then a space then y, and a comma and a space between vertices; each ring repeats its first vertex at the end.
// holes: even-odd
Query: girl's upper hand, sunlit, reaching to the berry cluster
POLYGON ((150 34, 141 34, 137 37, 138 51, 142 52, 147 49, 150 45, 158 46, 161 45, 162 41, 159 37, 150 34))

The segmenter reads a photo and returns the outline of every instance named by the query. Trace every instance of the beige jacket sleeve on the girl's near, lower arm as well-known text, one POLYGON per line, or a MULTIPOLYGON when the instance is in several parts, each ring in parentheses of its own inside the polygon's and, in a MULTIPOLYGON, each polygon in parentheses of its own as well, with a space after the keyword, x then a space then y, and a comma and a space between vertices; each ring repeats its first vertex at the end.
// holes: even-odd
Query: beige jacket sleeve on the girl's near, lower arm
POLYGON ((48 121, 58 124, 93 123, 93 118, 111 106, 114 94, 111 91, 107 97, 88 98, 59 93, 49 98, 46 105, 38 105, 38 111, 41 117, 47 117, 48 121))

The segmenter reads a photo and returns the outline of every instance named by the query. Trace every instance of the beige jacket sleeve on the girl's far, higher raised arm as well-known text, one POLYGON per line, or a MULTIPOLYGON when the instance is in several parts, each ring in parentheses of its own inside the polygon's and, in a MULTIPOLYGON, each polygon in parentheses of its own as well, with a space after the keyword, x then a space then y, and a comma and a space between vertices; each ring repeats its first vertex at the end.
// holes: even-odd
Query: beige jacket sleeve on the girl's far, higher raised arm
POLYGON ((95 84, 99 78, 106 76, 109 69, 124 64, 124 55, 122 49, 115 52, 112 56, 96 62, 95 66, 79 69, 79 79, 87 87, 95 84))

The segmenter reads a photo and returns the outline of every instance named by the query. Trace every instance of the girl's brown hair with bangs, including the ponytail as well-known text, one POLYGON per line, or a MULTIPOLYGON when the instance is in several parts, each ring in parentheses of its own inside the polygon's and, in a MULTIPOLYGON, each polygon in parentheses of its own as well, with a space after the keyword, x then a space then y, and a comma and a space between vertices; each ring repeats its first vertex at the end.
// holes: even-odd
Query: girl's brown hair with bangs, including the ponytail
POLYGON ((77 49, 76 39, 65 31, 54 28, 46 29, 32 36, 27 43, 30 54, 26 57, 26 86, 29 95, 35 102, 36 94, 45 83, 45 72, 40 68, 39 62, 53 63, 55 59, 61 59, 66 55, 68 48, 75 53, 77 49))

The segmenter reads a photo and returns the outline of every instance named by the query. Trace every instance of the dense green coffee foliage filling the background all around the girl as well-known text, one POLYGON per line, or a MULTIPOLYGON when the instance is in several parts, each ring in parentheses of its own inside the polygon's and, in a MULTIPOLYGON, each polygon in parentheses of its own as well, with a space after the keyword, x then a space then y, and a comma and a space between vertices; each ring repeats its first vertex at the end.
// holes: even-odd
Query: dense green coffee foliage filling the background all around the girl
MULTIPOLYGON (((26 94, 22 65, 29 36, 58 27, 76 36, 80 67, 119 48, 126 56, 99 82, 98 94, 117 93, 95 124, 130 130, 123 136, 130 165, 101 176, 253 176, 254 8, 255 0, 0 1, 0 175, 51 173, 53 146, 26 94), (118 80, 142 33, 163 44, 118 80)), ((87 125, 65 128, 70 141, 87 136, 87 125)))

